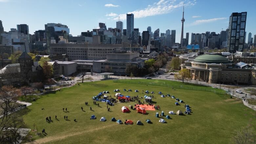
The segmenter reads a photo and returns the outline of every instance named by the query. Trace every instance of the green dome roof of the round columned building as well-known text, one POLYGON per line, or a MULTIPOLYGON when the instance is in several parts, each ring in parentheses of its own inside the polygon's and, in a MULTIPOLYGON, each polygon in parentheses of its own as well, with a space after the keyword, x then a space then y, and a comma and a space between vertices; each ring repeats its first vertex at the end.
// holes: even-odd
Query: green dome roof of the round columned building
POLYGON ((230 63, 230 61, 225 58, 224 56, 217 55, 217 54, 204 54, 197 58, 195 58, 194 62, 200 62, 200 63, 230 63))

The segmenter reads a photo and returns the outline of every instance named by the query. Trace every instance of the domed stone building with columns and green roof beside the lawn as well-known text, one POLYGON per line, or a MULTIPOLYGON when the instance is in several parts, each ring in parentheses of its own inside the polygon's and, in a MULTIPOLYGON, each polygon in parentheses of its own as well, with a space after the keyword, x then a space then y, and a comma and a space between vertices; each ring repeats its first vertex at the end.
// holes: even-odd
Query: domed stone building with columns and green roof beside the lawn
POLYGON ((251 84, 254 70, 245 63, 234 64, 226 57, 215 53, 198 56, 193 61, 184 61, 181 63, 181 69, 188 69, 194 80, 232 84, 251 84))

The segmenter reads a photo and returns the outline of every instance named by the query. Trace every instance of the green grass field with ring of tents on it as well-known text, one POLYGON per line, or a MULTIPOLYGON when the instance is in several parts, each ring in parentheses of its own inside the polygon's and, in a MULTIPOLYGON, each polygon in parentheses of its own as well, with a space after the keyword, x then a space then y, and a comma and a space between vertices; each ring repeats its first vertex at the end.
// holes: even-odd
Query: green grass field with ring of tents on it
MULTIPOLYGON (((136 80, 135 80, 136 81, 136 80)), ((151 82, 166 82, 162 80, 147 80, 151 82)), ((172 81, 168 81, 170 84, 172 81)), ((182 84, 173 82, 175 84, 182 84)), ((183 85, 183 84, 182 84, 183 85)), ((142 99, 141 99, 142 100, 142 99)), ((98 102, 97 102, 98 103, 98 102)), ((161 86, 113 83, 112 80, 87 82, 64 88, 60 92, 52 92, 42 95, 41 98, 32 102, 23 116, 28 127, 41 132, 44 128, 47 135, 36 135, 31 132, 28 137, 36 140, 37 143, 51 144, 75 144, 75 143, 148 143, 150 140, 154 144, 164 143, 228 143, 235 129, 250 123, 256 128, 255 111, 245 107, 241 100, 230 99, 225 94, 215 94, 211 92, 174 89, 161 86), (153 101, 160 106, 158 111, 147 111, 142 115, 134 110, 130 113, 122 113, 122 106, 134 105, 130 103, 118 103, 111 106, 111 112, 107 111, 107 106, 99 102, 100 107, 93 105, 92 97, 102 91, 109 91, 109 95, 115 95, 114 89, 119 89, 124 95, 143 97, 142 90, 161 91, 163 94, 171 94, 182 99, 192 109, 191 115, 170 115, 171 119, 165 119, 167 123, 158 122, 160 118, 155 117, 156 112, 164 111, 165 115, 169 111, 181 110, 184 112, 184 104, 175 106, 175 99, 170 97, 162 98, 154 94, 153 101), (133 92, 123 92, 123 89, 132 89, 133 92), (138 89, 139 93, 134 90, 138 89), (85 101, 90 106, 85 106, 85 101), (81 111, 81 107, 84 111, 81 111), (45 110, 41 110, 44 108, 45 110), (67 108, 68 112, 63 112, 62 108, 67 108), (97 119, 90 120, 90 116, 95 114, 97 119), (55 115, 58 120, 55 120, 55 115), (64 120, 64 115, 68 115, 70 121, 64 120), (46 122, 46 117, 52 117, 53 122, 46 122), (107 121, 101 122, 101 117, 106 117, 107 121), (133 120, 133 125, 117 124, 111 118, 133 120), (74 122, 74 119, 77 122, 74 122), (148 124, 146 119, 153 123, 148 124), (143 125, 136 125, 140 120, 143 125)), ((169 115, 169 114, 168 114, 169 115)))

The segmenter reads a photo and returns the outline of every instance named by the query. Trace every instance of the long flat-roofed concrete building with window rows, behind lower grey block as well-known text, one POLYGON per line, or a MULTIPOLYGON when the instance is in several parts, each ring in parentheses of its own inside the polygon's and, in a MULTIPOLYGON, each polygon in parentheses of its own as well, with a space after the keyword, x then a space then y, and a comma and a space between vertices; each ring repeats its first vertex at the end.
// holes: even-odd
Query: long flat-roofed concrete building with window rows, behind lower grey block
POLYGON ((106 59, 107 53, 120 52, 121 48, 120 44, 51 44, 50 54, 67 54, 69 60, 101 60, 106 59))

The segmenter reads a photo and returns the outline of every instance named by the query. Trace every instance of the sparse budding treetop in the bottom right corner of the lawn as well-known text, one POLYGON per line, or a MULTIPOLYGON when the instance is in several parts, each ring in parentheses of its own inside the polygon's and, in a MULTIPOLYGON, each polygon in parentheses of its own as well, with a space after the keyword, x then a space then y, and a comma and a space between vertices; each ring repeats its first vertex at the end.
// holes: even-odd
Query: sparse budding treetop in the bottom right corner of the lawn
POLYGON ((239 130, 235 131, 230 139, 231 144, 255 144, 256 134, 253 126, 247 124, 239 130))

